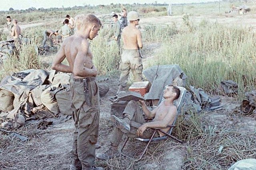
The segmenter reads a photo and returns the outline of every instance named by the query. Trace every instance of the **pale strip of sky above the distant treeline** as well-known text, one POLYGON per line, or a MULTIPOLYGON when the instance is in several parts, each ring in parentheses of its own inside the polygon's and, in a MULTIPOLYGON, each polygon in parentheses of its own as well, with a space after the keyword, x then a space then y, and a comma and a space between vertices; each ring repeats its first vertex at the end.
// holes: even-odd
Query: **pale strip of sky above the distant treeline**
MULTIPOLYGON (((214 0, 0 0, 0 10, 25 10, 30 7, 38 8, 61 8, 62 6, 73 7, 73 6, 84 6, 84 5, 108 5, 108 4, 133 4, 133 3, 169 3, 182 4, 182 3, 196 3, 196 2, 211 2, 214 0)), ((216 1, 216 0, 215 0, 216 1)))

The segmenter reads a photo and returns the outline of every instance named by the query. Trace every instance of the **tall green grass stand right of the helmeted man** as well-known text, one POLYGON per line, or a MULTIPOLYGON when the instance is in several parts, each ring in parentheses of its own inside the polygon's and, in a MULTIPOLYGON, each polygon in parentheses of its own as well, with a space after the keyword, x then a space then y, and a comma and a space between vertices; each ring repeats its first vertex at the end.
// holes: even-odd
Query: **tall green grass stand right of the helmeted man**
POLYGON ((188 85, 214 90, 222 80, 234 80, 240 92, 255 86, 256 34, 246 28, 204 24, 161 41, 161 53, 150 64, 179 64, 188 85))

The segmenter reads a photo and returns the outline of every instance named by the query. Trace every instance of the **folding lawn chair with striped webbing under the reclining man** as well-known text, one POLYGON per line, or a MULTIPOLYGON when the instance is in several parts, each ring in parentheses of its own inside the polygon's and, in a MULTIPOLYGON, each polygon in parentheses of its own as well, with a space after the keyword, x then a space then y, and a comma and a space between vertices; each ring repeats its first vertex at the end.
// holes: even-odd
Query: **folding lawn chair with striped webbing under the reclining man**
MULTIPOLYGON (((167 126, 168 128, 170 128, 170 130, 168 131, 168 133, 166 133, 166 132, 164 132, 164 131, 162 131, 162 130, 160 130, 160 129, 154 129, 154 128, 152 128, 152 129, 154 129, 155 131, 154 131, 154 133, 152 134, 152 136, 151 136, 150 139, 135 138, 135 139, 140 140, 140 141, 142 141, 142 142, 148 142, 146 148, 144 149, 144 151, 143 151, 142 154, 140 155, 140 158, 139 158, 138 160, 136 160, 136 161, 139 161, 139 160, 142 159, 142 157, 144 156, 146 150, 148 149, 148 146, 149 146, 150 142, 152 142, 152 141, 165 140, 165 139, 167 139, 168 137, 170 137, 170 138, 172 138, 172 139, 174 139, 174 140, 176 140, 176 141, 178 141, 178 142, 180 142, 180 143, 184 143, 184 142, 182 142, 181 140, 178 140, 176 137, 174 137, 174 136, 171 135, 171 134, 172 134, 172 130, 173 130, 173 128, 175 127, 176 120, 177 120, 178 116, 180 115, 182 105, 184 104, 184 98, 185 98, 185 96, 186 96, 186 88, 184 88, 184 87, 179 87, 179 86, 178 86, 178 88, 180 89, 180 97, 179 97, 178 99, 174 100, 174 105, 177 107, 177 116, 176 116, 176 118, 174 119, 172 125, 167 126), (154 135, 156 134, 157 131, 160 131, 160 132, 164 133, 166 136, 154 138, 154 135)), ((158 102, 158 105, 159 105, 162 101, 164 101, 164 98, 163 98, 162 96, 163 96, 163 93, 162 93, 162 95, 161 95, 161 97, 160 97, 160 100, 159 100, 159 102, 158 102)), ((129 139, 129 138, 127 138, 126 141, 124 142, 124 145, 122 146, 122 149, 121 149, 121 153, 122 153, 122 150, 124 149, 124 146, 126 145, 128 139, 129 139)), ((122 153, 122 155, 126 156, 126 155, 123 154, 123 153, 122 153)), ((127 156, 127 157, 128 157, 128 156, 127 156)))

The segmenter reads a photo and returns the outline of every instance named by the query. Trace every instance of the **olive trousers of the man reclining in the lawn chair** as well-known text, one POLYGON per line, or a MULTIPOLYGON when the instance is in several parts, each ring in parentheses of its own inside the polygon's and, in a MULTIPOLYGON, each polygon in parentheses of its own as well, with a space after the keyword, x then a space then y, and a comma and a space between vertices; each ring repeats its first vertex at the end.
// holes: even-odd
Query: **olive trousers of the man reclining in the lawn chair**
MULTIPOLYGON (((129 138, 138 138, 139 136, 136 135, 138 128, 142 124, 146 123, 138 103, 135 102, 134 100, 131 100, 130 102, 128 102, 127 106, 124 109, 123 116, 128 117, 130 120, 132 120, 130 122, 130 132, 126 133, 126 136, 128 136, 129 138)), ((148 130, 145 130, 143 132, 143 135, 140 136, 140 138, 145 138, 145 139, 150 138, 153 132, 154 130, 149 128, 148 130)), ((112 136, 111 136, 111 145, 118 146, 122 140, 123 134, 124 133, 120 129, 114 128, 114 131, 112 132, 112 136)), ((158 136, 159 134, 157 132, 155 137, 158 137, 158 136)))

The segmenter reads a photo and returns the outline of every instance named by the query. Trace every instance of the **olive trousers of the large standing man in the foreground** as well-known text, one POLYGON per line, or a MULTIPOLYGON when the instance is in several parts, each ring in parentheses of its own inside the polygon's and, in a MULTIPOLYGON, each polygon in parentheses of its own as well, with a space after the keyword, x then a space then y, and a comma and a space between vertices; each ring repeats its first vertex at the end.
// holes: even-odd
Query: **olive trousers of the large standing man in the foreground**
POLYGON ((76 130, 73 135, 72 156, 79 159, 82 169, 90 168, 95 161, 95 144, 98 140, 100 97, 95 78, 90 78, 88 89, 91 106, 88 106, 84 95, 83 79, 70 78, 71 108, 76 130))

